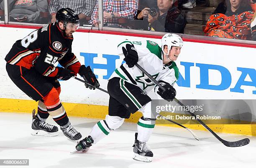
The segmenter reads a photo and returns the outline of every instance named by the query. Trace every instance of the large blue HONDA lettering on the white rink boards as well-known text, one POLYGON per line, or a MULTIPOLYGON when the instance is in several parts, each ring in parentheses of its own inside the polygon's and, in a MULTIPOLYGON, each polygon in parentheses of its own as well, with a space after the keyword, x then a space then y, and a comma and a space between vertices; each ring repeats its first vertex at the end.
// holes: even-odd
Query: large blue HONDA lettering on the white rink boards
MULTIPOLYGON (((111 74, 115 71, 116 66, 120 66, 120 65, 116 65, 116 60, 120 59, 118 55, 102 54, 102 57, 107 59, 107 64, 94 63, 94 58, 98 56, 95 53, 80 52, 80 55, 84 57, 85 66, 90 65, 90 67, 92 68, 92 71, 94 71, 94 69, 107 70, 107 75, 104 75, 103 79, 109 79, 111 74)), ((123 61, 122 64, 124 62, 125 61, 123 61)), ((182 74, 179 73, 179 79, 177 81, 177 85, 181 87, 191 87, 190 68, 194 67, 195 65, 196 67, 200 68, 200 84, 196 85, 196 88, 198 89, 225 90, 230 87, 230 84, 232 82, 232 77, 229 70, 220 65, 200 64, 200 63, 195 64, 193 62, 180 62, 180 65, 184 66, 184 70, 185 70, 184 76, 182 76, 182 74), (210 69, 217 70, 220 73, 221 82, 219 85, 209 84, 209 80, 210 81, 215 80, 209 77, 210 69)), ((256 87, 256 70, 255 69, 238 67, 237 70, 242 72, 242 74, 238 79, 236 86, 230 89, 231 92, 244 93, 244 90, 241 89, 241 86, 256 87), (245 81, 247 76, 251 78, 251 81, 245 81)), ((98 78, 98 75, 95 74, 95 76, 98 78)), ((256 94, 256 90, 252 91, 252 93, 256 94)))

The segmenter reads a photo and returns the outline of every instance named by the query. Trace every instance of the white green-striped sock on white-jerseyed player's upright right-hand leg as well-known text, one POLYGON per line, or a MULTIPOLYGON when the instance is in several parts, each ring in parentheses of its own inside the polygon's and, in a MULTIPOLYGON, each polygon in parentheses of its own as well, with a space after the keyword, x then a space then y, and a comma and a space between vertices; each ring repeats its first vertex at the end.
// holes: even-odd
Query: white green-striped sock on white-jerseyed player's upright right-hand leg
POLYGON ((149 137, 151 136, 151 133, 154 130, 156 121, 145 121, 143 119, 139 119, 137 124, 138 129, 138 141, 141 142, 147 142, 149 137))

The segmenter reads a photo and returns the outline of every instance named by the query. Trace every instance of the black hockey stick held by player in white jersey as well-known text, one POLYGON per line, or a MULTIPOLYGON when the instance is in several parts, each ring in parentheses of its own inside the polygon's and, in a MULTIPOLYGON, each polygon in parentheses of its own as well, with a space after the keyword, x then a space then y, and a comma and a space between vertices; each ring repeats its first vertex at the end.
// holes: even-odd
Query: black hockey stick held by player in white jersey
MULTIPOLYGON (((135 64, 135 66, 140 69, 144 74, 146 74, 146 76, 151 79, 152 82, 154 82, 157 86, 159 86, 163 91, 165 90, 164 87, 159 84, 159 82, 156 81, 156 79, 154 79, 150 74, 148 74, 148 72, 145 71, 145 69, 143 69, 139 64, 135 64)), ((186 106, 184 106, 184 104, 182 104, 182 102, 180 102, 178 99, 174 98, 174 100, 181 105, 182 107, 185 107, 184 109, 187 109, 186 106)), ((225 146, 228 147, 238 147, 238 146, 245 146, 248 143, 250 143, 250 140, 248 138, 244 138, 241 139, 239 141, 225 141, 224 139, 220 138, 214 131, 212 131, 204 122, 202 122, 200 119, 197 119, 197 116, 190 112, 189 110, 186 110, 189 114, 191 114, 192 116, 194 116, 196 118, 196 120, 198 122, 200 122, 200 124, 202 124, 202 126, 204 126, 208 131, 210 131, 210 133, 212 133, 213 136, 215 136, 215 138, 217 138, 220 142, 222 142, 225 146)))

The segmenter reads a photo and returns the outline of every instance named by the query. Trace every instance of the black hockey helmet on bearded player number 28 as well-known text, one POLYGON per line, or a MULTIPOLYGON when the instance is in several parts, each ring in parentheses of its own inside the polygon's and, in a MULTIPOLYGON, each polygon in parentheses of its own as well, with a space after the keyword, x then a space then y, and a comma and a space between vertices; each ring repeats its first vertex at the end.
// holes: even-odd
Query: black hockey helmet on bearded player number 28
POLYGON ((69 7, 61 8, 56 13, 56 22, 59 23, 60 21, 62 21, 66 27, 67 22, 79 24, 79 17, 77 13, 69 7))

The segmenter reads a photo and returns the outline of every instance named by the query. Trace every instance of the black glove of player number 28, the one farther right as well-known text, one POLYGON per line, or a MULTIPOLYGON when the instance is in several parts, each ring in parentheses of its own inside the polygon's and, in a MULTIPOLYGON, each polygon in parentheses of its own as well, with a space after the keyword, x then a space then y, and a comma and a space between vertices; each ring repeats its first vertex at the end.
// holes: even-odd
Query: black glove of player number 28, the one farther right
MULTIPOLYGON (((85 67, 85 65, 81 65, 78 74, 84 78, 85 82, 88 82, 89 84, 92 84, 95 87, 100 86, 90 66, 85 67)), ((86 88, 95 90, 95 87, 89 86, 88 84, 84 84, 84 85, 86 88)))

